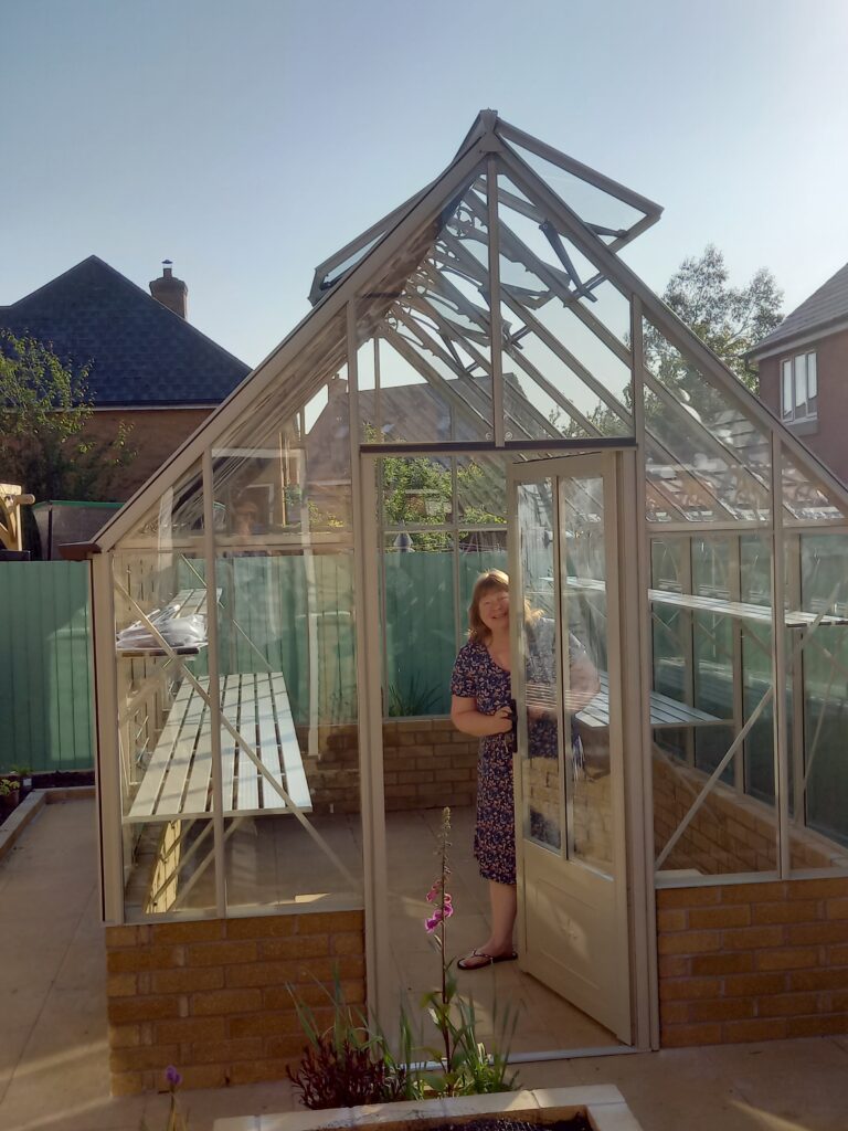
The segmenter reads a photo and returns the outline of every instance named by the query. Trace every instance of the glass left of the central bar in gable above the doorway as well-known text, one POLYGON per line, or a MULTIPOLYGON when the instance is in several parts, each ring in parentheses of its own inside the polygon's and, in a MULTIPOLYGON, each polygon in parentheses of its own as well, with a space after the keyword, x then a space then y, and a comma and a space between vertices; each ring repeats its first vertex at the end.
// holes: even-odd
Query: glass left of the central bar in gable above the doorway
POLYGON ((492 440, 485 180, 408 250, 361 299, 363 441, 492 440))

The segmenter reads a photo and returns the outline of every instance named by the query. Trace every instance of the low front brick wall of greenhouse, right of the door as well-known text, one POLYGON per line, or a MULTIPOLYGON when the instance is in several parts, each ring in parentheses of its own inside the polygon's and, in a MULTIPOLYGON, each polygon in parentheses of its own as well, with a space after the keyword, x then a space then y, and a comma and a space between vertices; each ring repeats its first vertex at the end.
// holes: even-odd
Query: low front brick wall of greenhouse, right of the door
POLYGON ((660 1044, 848 1031, 848 879, 657 892, 660 1044))

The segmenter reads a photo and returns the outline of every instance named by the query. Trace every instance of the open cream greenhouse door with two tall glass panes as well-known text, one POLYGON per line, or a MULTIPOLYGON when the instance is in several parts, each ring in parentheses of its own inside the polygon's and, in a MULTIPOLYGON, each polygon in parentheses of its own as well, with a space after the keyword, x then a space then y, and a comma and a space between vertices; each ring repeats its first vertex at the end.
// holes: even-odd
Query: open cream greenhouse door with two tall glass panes
POLYGON ((509 482, 522 969, 631 1043, 614 452, 509 482))

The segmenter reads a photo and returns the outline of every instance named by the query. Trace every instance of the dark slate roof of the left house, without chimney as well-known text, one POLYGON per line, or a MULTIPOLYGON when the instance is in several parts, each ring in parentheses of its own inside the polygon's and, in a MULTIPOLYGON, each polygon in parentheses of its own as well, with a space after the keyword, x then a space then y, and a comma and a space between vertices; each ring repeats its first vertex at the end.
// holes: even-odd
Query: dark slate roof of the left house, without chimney
POLYGON ((218 404, 250 372, 97 256, 0 307, 0 328, 51 343, 63 361, 90 362, 98 407, 218 404))

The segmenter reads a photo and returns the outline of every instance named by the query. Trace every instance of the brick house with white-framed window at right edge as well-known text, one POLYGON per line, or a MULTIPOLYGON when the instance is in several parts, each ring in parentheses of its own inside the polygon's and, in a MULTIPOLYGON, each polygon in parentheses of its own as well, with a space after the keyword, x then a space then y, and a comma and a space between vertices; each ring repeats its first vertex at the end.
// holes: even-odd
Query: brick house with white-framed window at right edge
POLYGON ((848 481, 848 264, 751 351, 760 396, 796 435, 848 481))

